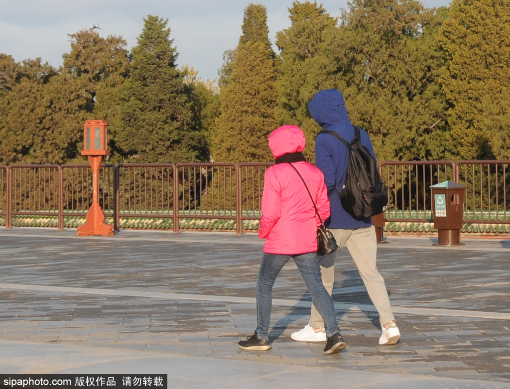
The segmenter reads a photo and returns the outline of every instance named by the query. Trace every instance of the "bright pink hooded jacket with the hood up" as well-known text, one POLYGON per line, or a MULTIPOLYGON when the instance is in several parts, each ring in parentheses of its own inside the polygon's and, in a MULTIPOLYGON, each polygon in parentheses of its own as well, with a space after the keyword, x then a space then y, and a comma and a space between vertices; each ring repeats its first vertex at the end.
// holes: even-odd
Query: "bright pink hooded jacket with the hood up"
MULTIPOLYGON (((301 152, 305 140, 295 125, 276 128, 269 135, 269 147, 275 158, 301 152)), ((321 171, 308 162, 294 162, 308 185, 322 221, 329 217, 329 200, 321 171)), ((287 163, 266 170, 262 195, 259 238, 265 239, 269 254, 303 254, 317 251, 317 226, 320 225, 310 195, 297 172, 287 163)))

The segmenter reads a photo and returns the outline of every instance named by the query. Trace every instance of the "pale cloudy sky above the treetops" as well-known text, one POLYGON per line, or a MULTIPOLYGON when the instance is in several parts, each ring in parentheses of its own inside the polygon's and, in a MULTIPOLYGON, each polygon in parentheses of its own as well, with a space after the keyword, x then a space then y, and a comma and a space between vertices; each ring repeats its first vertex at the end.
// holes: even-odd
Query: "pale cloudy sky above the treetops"
MULTIPOLYGON (((304 0, 303 0, 304 1, 304 0)), ((189 65, 203 80, 214 81, 225 50, 236 48, 244 9, 250 3, 267 10, 269 39, 290 27, 292 0, 0 0, 0 53, 16 62, 41 58, 54 67, 69 53, 68 34, 92 28, 101 37, 121 36, 126 47, 137 44, 147 15, 168 19, 177 66, 189 65)), ((425 7, 448 6, 450 0, 422 0, 425 7)), ((347 0, 317 1, 333 17, 347 0)), ((276 50, 276 47, 275 47, 276 50)))

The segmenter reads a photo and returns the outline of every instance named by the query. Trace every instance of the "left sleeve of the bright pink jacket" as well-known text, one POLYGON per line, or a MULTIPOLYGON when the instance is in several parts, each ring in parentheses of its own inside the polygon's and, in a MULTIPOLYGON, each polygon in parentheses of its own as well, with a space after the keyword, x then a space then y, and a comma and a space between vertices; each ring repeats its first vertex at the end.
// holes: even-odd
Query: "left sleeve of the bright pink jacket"
MULTIPOLYGON (((259 238, 265 239, 280 218, 282 196, 278 180, 271 169, 264 174, 264 192, 262 194, 262 217, 259 225, 259 238)), ((321 216, 322 217, 322 216, 321 216)))

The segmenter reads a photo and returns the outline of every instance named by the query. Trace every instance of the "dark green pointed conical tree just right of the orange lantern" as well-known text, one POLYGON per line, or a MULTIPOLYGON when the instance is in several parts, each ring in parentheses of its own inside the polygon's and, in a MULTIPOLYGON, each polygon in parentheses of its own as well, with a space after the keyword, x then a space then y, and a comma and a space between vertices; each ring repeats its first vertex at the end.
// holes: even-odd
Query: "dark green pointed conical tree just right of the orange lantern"
POLYGON ((133 47, 130 78, 122 92, 122 128, 115 149, 139 163, 207 159, 205 138, 194 121, 184 76, 176 67, 167 20, 148 15, 133 47))

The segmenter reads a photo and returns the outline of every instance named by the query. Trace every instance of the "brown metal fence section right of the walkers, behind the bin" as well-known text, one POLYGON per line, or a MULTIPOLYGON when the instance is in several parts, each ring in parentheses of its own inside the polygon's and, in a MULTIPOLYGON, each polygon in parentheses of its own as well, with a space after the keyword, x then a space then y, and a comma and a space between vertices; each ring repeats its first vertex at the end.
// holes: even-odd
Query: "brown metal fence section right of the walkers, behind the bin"
POLYGON ((386 221, 432 221, 430 186, 446 180, 466 187, 464 223, 510 224, 510 161, 382 162, 389 188, 386 221))

